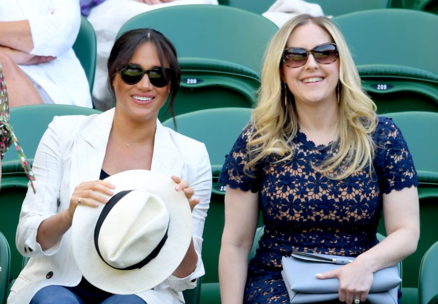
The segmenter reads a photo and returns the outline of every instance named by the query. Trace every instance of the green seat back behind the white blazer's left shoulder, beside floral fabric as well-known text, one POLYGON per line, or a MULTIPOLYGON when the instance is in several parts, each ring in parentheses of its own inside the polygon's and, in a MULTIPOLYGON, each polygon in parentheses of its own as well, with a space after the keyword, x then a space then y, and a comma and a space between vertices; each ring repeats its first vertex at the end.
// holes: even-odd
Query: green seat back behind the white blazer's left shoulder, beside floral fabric
MULTIPOLYGON (((18 142, 24 153, 32 162, 39 140, 53 117, 58 115, 90 115, 101 113, 98 110, 59 104, 41 104, 10 109, 10 124, 14 128, 18 142)), ((18 158, 14 149, 9 149, 2 162, 15 161, 18 158)))

